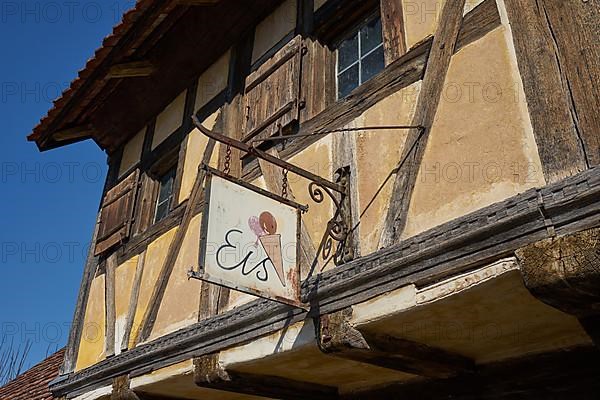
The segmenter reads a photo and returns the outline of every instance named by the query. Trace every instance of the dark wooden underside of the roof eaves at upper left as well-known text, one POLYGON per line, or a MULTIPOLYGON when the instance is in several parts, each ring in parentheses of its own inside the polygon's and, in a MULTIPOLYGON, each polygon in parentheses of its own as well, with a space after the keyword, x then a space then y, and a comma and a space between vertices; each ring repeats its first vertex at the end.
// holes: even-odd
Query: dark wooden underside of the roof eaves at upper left
POLYGON ((28 140, 114 151, 281 2, 138 0, 28 140))

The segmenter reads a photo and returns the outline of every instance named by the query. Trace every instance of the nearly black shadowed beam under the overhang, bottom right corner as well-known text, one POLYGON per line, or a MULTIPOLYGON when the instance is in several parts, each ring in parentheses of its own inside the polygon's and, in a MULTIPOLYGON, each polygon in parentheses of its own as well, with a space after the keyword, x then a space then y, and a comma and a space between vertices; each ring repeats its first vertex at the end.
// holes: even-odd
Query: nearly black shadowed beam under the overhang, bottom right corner
POLYGON ((576 347, 493 362, 449 379, 403 382, 343 396, 344 400, 593 399, 600 391, 600 352, 576 347))

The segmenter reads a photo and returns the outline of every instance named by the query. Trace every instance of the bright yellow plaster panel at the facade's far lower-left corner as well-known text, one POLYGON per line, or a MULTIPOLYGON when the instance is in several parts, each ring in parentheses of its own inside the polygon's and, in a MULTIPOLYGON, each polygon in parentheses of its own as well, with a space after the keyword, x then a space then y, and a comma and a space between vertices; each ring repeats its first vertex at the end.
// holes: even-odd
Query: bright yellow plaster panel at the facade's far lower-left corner
POLYGON ((75 371, 85 369, 105 358, 105 315, 104 275, 99 275, 90 286, 75 371))

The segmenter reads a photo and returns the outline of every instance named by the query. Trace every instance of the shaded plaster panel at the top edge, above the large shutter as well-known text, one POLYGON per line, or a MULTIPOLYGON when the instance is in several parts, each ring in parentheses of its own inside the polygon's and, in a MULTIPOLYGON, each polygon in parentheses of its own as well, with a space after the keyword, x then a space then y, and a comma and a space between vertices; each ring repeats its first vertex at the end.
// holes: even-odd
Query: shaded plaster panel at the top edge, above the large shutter
POLYGON ((252 62, 275 46, 296 28, 296 0, 286 0, 256 27, 252 62))

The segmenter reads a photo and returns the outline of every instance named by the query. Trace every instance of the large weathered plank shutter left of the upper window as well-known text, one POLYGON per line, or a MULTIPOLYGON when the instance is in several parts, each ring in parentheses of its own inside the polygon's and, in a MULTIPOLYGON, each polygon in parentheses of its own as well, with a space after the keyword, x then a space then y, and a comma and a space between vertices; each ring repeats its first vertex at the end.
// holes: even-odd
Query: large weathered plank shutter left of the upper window
POLYGON ((244 141, 266 138, 298 120, 302 37, 296 36, 246 79, 244 141))

